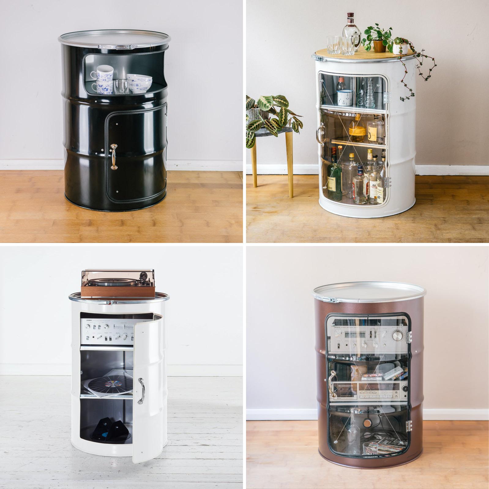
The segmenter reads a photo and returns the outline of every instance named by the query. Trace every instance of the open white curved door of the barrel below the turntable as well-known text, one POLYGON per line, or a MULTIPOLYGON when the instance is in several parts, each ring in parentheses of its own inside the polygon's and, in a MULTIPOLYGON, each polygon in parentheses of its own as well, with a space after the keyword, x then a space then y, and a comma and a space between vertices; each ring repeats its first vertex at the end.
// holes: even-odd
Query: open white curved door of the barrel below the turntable
POLYGON ((134 325, 133 462, 157 457, 166 443, 163 318, 134 325))

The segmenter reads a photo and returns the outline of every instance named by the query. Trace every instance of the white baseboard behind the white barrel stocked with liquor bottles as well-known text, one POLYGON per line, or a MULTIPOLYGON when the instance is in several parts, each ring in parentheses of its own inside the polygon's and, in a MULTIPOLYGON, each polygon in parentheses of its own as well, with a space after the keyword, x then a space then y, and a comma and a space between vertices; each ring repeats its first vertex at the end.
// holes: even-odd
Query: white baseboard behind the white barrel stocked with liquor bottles
MULTIPOLYGON (((258 175, 287 175, 286 164, 257 165, 258 175)), ((246 165, 251 175, 251 165, 246 165)), ((294 175, 317 175, 317 165, 294 164, 294 175)), ((489 175, 489 165, 416 165, 416 175, 489 175)))

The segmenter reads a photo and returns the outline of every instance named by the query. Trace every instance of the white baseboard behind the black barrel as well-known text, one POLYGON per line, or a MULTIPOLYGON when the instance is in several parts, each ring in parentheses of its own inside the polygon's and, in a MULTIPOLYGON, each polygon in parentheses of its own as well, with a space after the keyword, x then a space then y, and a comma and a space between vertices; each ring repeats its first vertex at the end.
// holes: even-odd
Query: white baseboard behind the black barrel
MULTIPOLYGON (((0 170, 63 170, 63 159, 0 159, 0 170)), ((167 161, 167 170, 242 172, 243 161, 179 160, 167 161)))

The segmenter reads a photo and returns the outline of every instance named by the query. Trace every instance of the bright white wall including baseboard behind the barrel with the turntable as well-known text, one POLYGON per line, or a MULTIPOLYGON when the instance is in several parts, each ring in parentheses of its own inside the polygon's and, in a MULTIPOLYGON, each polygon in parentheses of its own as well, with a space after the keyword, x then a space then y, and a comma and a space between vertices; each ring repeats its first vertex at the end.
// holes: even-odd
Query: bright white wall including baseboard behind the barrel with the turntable
POLYGON ((243 247, 0 246, 0 374, 71 374, 70 293, 85 268, 154 268, 169 375, 242 375, 243 247))

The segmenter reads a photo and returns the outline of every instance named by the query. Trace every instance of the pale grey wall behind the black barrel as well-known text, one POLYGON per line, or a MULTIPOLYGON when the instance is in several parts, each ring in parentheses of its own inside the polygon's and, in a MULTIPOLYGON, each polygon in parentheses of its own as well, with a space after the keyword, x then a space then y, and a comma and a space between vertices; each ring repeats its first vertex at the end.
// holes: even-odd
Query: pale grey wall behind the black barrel
MULTIPOLYGON (((226 0, 2 1, 0 165, 12 159, 63 158, 57 38, 65 32, 117 28, 161 31, 172 38, 165 54, 169 168, 175 160, 180 166, 198 160, 241 170, 243 6, 226 0), (12 74, 19 77, 20 89, 12 88, 12 74), (240 124, 228 123, 233 115, 240 124)), ((56 164, 44 162, 49 163, 56 164)), ((10 162, 8 167, 25 164, 10 162)), ((63 161, 59 164, 63 168, 63 161)))

